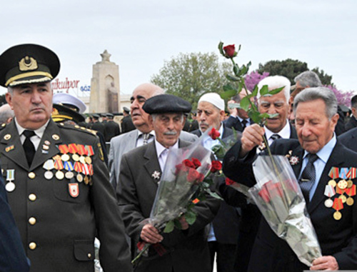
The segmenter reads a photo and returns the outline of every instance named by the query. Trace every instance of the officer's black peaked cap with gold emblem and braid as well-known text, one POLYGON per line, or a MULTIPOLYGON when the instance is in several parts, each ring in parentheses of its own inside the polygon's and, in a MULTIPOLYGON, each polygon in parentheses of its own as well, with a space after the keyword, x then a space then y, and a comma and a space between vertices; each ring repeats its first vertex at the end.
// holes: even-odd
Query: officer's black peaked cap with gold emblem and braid
POLYGON ((0 55, 0 85, 16 86, 51 81, 59 74, 59 58, 37 44, 19 44, 0 55))

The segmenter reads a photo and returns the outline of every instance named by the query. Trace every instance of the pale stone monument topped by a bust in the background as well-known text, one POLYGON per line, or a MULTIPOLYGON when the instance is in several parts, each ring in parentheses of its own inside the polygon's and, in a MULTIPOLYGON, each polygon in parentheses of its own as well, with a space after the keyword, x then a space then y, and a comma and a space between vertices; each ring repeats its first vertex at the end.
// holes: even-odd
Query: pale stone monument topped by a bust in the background
POLYGON ((93 65, 89 113, 117 113, 120 108, 119 66, 104 51, 101 61, 93 65))

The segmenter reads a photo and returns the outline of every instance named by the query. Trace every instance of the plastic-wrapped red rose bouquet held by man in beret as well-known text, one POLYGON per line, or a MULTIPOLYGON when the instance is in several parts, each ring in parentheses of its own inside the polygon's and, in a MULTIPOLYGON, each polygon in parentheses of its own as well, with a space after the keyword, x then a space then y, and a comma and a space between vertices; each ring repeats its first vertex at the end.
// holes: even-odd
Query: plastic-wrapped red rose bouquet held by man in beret
MULTIPOLYGON (((179 218, 184 214, 186 222, 192 225, 196 221, 193 211, 196 203, 204 201, 207 193, 219 198, 210 190, 211 180, 206 178, 217 167, 221 169, 221 165, 212 165, 211 151, 203 148, 200 140, 190 146, 169 149, 151 216, 141 223, 150 223, 159 231, 170 233, 175 227, 181 229, 179 218)), ((139 242, 139 254, 132 263, 135 264, 149 246, 150 243, 139 242)))

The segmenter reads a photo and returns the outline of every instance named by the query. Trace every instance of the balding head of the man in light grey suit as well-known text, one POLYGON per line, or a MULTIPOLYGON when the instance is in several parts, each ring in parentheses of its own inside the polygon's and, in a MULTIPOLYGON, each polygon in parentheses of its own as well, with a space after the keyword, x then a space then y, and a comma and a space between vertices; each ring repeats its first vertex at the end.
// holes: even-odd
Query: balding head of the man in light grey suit
POLYGON ((149 133, 152 128, 149 125, 149 114, 142 109, 145 101, 152 96, 164 94, 164 90, 151 83, 144 83, 137 86, 131 96, 131 119, 136 129, 143 133, 149 133))

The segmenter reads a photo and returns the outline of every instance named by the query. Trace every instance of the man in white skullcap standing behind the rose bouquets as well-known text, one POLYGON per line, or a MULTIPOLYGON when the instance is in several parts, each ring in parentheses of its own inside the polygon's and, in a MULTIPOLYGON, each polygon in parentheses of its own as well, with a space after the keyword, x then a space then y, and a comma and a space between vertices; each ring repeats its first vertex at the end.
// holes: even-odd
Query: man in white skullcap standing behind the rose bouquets
MULTIPOLYGON (((198 100, 197 121, 199 130, 192 131, 193 134, 201 136, 208 128, 213 127, 220 132, 220 138, 227 138, 233 135, 233 131, 223 124, 224 100, 216 93, 203 94, 198 100)), ((219 141, 212 140, 211 137, 203 139, 203 146, 211 149, 219 141)), ((236 254, 236 244, 238 241, 239 214, 236 208, 221 203, 221 207, 211 223, 208 235, 208 246, 211 253, 211 263, 215 253, 217 254, 217 271, 233 271, 236 254)))

